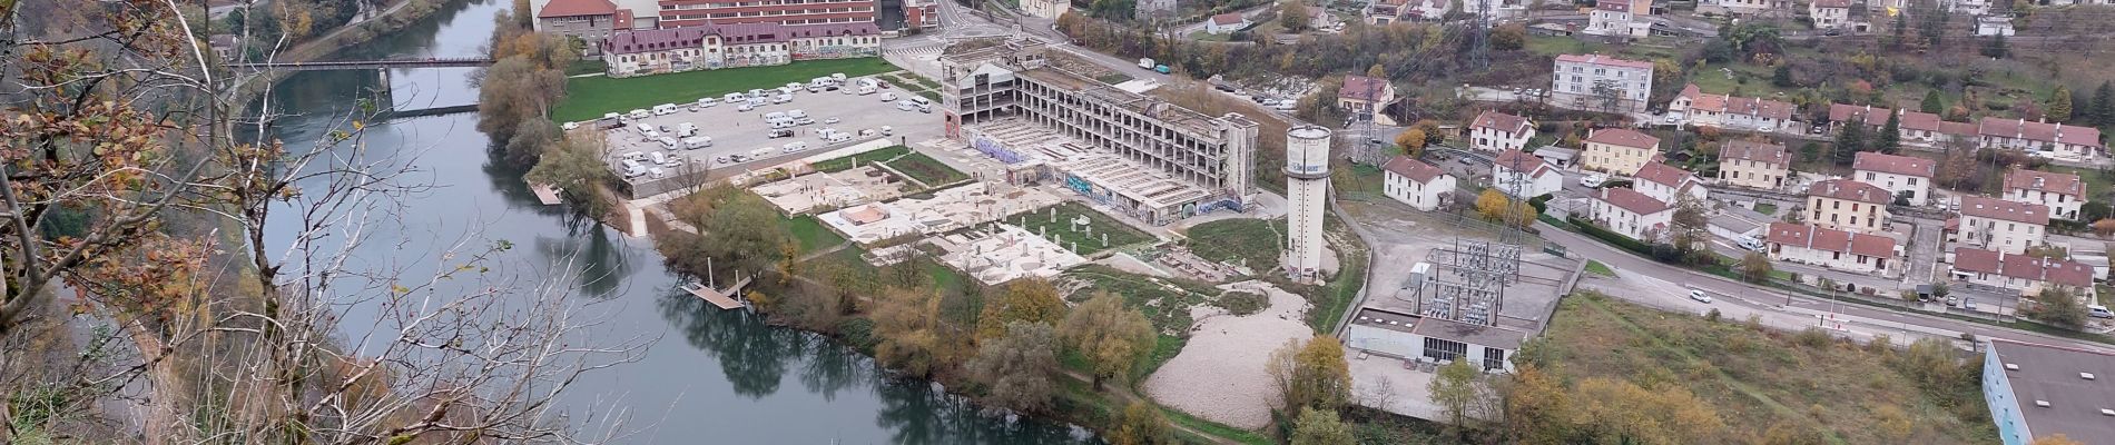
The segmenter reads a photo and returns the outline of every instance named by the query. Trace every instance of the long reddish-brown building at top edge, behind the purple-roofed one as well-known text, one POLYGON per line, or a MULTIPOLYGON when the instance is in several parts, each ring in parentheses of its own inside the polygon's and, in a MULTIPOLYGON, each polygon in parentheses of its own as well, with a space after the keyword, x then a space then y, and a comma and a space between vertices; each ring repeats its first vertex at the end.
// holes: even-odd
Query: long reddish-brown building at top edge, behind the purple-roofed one
POLYGON ((873 23, 876 0, 658 0, 660 27, 873 23))

